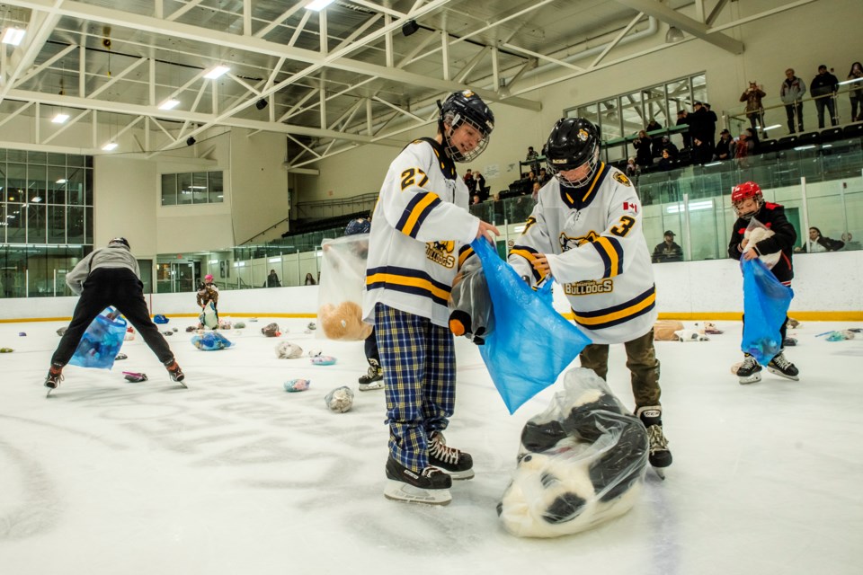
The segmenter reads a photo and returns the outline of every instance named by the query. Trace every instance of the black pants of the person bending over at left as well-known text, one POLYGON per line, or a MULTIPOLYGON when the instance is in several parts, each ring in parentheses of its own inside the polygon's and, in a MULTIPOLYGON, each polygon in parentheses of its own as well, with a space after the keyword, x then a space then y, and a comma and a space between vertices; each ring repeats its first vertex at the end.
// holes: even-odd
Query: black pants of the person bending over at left
POLYGON ((109 305, 126 316, 159 361, 164 364, 173 361, 168 342, 150 319, 147 302, 144 301, 144 285, 135 272, 125 268, 98 268, 84 282, 84 292, 75 306, 72 322, 51 358, 53 365, 65 366, 69 362, 90 323, 109 305))

